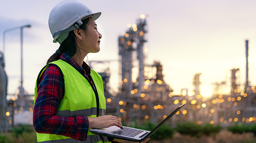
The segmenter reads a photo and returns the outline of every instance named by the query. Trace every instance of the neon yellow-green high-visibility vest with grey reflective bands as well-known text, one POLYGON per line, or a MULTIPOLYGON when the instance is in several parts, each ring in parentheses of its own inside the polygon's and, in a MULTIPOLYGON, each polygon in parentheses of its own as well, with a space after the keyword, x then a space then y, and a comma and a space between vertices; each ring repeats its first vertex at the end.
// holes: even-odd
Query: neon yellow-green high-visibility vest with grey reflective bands
MULTIPOLYGON (((88 116, 96 117, 97 110, 99 116, 105 115, 106 103, 104 97, 104 90, 101 76, 91 69, 91 78, 94 81, 94 85, 88 81, 83 74, 79 73, 72 65, 63 61, 57 60, 47 64, 41 69, 36 85, 35 85, 35 99, 37 97, 37 86, 39 84, 38 79, 41 76, 42 71, 49 65, 55 65, 59 68, 60 73, 63 74, 65 83, 65 94, 60 102, 56 115, 58 116, 88 116), (38 83, 38 84, 37 84, 38 83), (98 95, 98 96, 97 96, 98 95), (98 97, 98 109, 97 109, 97 97, 98 97)), ((35 101, 34 101, 35 102, 35 101)), ((56 135, 56 134, 44 134, 37 133, 37 141, 44 143, 73 143, 73 142, 109 142, 107 137, 99 136, 88 131, 86 141, 79 141, 71 137, 56 135)))

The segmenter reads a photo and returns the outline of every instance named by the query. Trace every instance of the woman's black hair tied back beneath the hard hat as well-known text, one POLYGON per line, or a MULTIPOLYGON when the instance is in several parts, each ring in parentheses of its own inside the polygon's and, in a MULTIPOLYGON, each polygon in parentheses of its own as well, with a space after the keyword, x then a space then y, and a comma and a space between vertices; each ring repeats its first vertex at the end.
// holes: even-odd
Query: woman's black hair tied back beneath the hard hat
MULTIPOLYGON (((82 25, 79 29, 86 31, 87 30, 87 24, 89 22, 89 17, 82 20, 82 25)), ((67 54, 70 57, 73 57, 75 53, 79 53, 81 56, 81 53, 79 51, 79 47, 76 43, 76 35, 74 31, 70 31, 68 37, 62 41, 62 43, 59 46, 59 51, 62 53, 67 54)), ((53 61, 57 61, 59 59, 60 55, 58 53, 54 53, 48 60, 47 64, 53 61)))

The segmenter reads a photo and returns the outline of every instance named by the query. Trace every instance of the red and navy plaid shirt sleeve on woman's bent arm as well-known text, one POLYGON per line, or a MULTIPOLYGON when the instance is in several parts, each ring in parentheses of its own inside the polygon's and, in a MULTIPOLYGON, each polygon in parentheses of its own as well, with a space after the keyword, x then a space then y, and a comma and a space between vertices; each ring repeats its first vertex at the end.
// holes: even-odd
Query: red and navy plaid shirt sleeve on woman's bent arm
POLYGON ((59 69, 48 66, 41 74, 33 112, 33 125, 38 133, 58 134, 84 141, 89 127, 87 116, 63 117, 56 112, 63 98, 59 69))

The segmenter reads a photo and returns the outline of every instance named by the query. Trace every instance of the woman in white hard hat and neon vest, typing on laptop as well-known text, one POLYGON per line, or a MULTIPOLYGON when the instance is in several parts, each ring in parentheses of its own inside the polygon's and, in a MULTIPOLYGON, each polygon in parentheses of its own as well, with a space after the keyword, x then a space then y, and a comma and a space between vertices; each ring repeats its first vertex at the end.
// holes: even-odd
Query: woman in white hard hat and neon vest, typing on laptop
POLYGON ((83 61, 100 50, 102 35, 94 21, 100 14, 76 1, 63 1, 50 13, 53 42, 60 46, 36 81, 33 125, 38 142, 123 141, 89 131, 123 129, 116 116, 105 115, 102 79, 83 61))

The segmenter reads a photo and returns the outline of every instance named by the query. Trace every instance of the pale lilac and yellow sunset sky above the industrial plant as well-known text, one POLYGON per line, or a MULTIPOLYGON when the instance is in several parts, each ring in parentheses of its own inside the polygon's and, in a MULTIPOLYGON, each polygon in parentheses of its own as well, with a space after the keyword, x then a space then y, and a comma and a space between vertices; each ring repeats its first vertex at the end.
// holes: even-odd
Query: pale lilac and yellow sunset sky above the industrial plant
MULTIPOLYGON (((33 94, 39 70, 58 49, 48 28, 52 8, 61 1, 2 1, 0 5, 0 51, 3 32, 31 24, 24 29, 24 88, 33 94)), ((111 82, 119 87, 118 36, 126 25, 147 15, 146 64, 160 61, 166 84, 180 94, 182 88, 193 91, 193 78, 202 73, 201 94, 209 96, 212 83, 230 85, 230 69, 240 68, 238 81, 245 83, 245 40, 249 40, 249 85, 256 85, 256 1, 183 0, 183 1, 81 1, 93 12, 102 12, 96 20, 102 34, 101 51, 89 54, 91 60, 111 60, 111 82)), ((8 93, 16 92, 20 82, 20 31, 6 33, 6 73, 8 93)))

